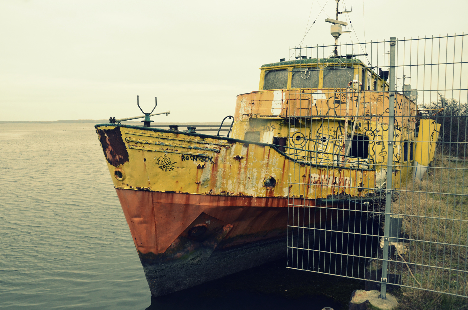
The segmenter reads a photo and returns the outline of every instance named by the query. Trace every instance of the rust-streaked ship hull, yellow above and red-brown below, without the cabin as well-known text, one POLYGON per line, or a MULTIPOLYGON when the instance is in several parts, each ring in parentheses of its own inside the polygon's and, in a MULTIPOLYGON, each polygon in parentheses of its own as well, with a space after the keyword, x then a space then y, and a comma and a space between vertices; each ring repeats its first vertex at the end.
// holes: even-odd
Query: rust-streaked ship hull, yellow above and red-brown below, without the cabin
POLYGON ((271 144, 95 127, 154 296, 284 256, 288 199, 320 205, 310 221, 331 222, 344 214, 329 195, 363 196, 358 186, 373 186, 372 170, 322 169, 271 144), (290 175, 289 165, 300 173, 290 175), (293 192, 291 179, 303 186, 293 192))

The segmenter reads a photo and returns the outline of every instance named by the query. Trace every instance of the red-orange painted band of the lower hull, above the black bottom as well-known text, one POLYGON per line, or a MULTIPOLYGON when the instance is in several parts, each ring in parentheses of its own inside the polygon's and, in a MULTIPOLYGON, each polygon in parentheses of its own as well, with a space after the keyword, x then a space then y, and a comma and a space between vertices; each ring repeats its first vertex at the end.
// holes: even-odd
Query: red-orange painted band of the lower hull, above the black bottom
POLYGON ((286 198, 116 191, 143 254, 165 252, 202 213, 234 225, 223 242, 229 246, 282 236, 286 227, 286 198))

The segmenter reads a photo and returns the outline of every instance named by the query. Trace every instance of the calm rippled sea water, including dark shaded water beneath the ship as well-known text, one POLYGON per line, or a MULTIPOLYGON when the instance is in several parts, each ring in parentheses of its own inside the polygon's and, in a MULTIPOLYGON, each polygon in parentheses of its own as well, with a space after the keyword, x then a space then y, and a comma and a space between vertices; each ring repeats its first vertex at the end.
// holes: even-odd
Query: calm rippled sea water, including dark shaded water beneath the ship
POLYGON ((1 309, 338 310, 361 285, 278 261, 152 299, 92 124, 0 124, 0 173, 1 309))

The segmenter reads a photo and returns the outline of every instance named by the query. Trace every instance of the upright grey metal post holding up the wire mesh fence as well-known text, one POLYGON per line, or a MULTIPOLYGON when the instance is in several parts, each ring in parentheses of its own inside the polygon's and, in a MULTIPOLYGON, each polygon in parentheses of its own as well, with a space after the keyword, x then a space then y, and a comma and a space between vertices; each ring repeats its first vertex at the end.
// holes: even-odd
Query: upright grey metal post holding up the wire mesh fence
POLYGON ((385 193, 385 220, 383 229, 383 260, 382 278, 380 279, 380 298, 385 299, 387 292, 388 272, 388 238, 390 236, 390 204, 392 202, 392 175, 393 175, 393 133, 395 127, 395 37, 390 37, 390 72, 388 84, 388 148, 387 148, 387 188, 385 193))

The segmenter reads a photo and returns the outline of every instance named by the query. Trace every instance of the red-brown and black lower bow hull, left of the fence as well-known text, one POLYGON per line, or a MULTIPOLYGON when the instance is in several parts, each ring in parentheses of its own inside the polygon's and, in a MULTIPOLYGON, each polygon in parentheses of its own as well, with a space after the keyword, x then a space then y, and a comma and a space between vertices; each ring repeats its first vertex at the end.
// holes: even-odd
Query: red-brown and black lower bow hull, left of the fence
POLYGON ((287 198, 116 190, 153 296, 286 255, 287 198))

